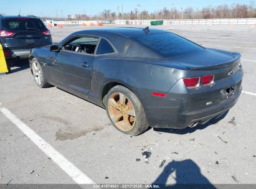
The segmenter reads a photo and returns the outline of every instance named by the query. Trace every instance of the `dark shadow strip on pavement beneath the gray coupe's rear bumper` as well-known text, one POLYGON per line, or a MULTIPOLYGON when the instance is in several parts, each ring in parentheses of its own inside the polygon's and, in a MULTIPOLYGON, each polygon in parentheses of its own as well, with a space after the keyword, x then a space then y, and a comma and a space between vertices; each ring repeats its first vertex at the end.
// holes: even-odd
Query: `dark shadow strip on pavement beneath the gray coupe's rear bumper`
POLYGON ((213 124, 216 124, 217 122, 219 122, 221 119, 224 119, 225 116, 227 116, 227 113, 229 113, 229 111, 225 112, 224 114, 222 114, 222 116, 220 116, 219 118, 213 118, 211 119, 211 121, 207 122, 206 124, 199 124, 196 127, 186 127, 185 129, 168 129, 168 128, 154 128, 154 131, 157 132, 168 132, 168 133, 173 133, 173 134, 187 134, 187 133, 192 133, 196 130, 202 130, 205 129, 208 126, 212 126, 213 124))

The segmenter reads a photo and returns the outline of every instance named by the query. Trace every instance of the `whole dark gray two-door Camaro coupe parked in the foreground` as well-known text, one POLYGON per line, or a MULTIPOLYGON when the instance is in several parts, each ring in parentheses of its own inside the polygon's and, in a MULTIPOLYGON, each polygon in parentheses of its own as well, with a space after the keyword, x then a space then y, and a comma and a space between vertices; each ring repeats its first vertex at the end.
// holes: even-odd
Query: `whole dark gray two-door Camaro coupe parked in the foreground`
POLYGON ((240 53, 204 48, 165 30, 83 30, 34 48, 41 88, 57 86, 107 109, 136 136, 148 126, 183 129, 227 112, 242 91, 240 53))

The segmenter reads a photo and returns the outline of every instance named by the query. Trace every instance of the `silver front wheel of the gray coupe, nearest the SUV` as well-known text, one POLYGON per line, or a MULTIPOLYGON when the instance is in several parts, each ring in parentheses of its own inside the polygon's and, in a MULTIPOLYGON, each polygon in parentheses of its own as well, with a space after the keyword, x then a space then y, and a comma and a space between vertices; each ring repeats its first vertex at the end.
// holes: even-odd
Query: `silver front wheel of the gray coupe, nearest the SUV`
POLYGON ((47 83, 44 73, 42 71, 42 68, 40 66, 40 63, 36 58, 32 59, 31 68, 32 68, 32 75, 34 76, 37 86, 39 86, 40 88, 45 88, 50 86, 49 83, 47 83))

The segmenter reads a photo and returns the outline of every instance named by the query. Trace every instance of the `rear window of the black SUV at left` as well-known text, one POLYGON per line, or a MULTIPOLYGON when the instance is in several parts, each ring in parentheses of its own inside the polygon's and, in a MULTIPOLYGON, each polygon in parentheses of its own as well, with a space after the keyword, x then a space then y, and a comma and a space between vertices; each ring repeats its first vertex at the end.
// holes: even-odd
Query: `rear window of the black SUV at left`
POLYGON ((2 19, 2 27, 6 30, 28 30, 28 29, 38 29, 44 30, 45 25, 40 19, 32 18, 11 18, 2 19))

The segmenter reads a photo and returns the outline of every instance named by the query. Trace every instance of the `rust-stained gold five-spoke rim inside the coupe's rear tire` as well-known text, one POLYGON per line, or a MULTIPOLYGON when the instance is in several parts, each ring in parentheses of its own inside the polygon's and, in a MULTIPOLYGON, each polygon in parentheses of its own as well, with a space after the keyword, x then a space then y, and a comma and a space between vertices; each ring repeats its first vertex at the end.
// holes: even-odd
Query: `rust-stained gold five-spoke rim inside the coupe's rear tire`
POLYGON ((123 93, 113 93, 108 99, 110 118, 121 131, 131 131, 135 126, 135 109, 123 93))

